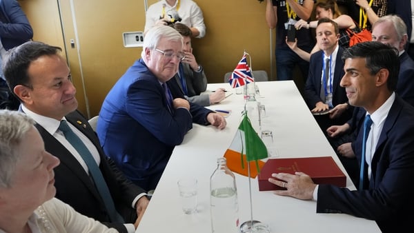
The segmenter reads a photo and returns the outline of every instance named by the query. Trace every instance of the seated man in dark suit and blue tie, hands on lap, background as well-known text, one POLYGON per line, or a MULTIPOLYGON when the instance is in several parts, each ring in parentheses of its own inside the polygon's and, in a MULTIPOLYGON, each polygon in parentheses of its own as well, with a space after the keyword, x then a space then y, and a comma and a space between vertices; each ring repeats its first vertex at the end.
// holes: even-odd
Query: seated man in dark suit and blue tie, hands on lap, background
POLYGON ((304 99, 325 132, 331 125, 345 123, 352 112, 345 89, 339 85, 344 75, 344 62, 340 59, 344 49, 338 45, 337 23, 328 18, 319 19, 316 40, 321 50, 311 55, 304 99), (328 114, 317 115, 326 110, 328 114))

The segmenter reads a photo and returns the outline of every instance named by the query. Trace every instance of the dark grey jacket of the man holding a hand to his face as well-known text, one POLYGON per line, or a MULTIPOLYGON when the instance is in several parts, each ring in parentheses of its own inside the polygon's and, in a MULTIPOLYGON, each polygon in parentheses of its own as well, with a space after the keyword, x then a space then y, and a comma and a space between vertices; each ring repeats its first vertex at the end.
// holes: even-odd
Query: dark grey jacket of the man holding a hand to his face
POLYGON ((177 84, 186 96, 186 99, 201 106, 209 106, 209 95, 201 94, 201 92, 204 92, 207 89, 207 78, 206 74, 204 74, 204 70, 201 68, 201 72, 195 72, 187 63, 180 63, 179 72, 184 75, 184 79, 186 80, 187 94, 184 92, 178 74, 175 74, 174 79, 177 81, 177 84))

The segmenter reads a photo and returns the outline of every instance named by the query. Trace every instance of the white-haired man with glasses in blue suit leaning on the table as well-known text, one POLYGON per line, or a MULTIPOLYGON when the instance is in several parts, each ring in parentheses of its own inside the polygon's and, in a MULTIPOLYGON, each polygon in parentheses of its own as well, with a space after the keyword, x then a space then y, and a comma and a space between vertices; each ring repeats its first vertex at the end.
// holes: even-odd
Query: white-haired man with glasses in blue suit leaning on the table
POLYGON ((226 127, 220 114, 189 103, 175 80, 184 58, 183 37, 169 26, 146 32, 141 59, 103 101, 97 134, 103 150, 128 179, 155 189, 175 145, 193 123, 226 127))

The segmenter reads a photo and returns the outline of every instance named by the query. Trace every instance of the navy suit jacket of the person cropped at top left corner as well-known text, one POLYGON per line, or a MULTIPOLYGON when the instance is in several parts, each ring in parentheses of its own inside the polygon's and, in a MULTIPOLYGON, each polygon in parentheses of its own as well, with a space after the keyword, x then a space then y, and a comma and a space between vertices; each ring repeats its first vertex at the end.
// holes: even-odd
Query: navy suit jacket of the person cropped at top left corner
POLYGON ((15 0, 0 1, 0 38, 5 50, 32 39, 32 26, 15 0))

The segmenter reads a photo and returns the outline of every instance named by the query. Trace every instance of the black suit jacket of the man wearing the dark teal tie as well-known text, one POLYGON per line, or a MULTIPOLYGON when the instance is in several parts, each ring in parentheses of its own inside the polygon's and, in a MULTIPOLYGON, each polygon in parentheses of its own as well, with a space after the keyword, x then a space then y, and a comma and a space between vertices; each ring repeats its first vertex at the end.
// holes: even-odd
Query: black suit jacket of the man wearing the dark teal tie
MULTIPOLYGON (((126 176, 117 169, 115 163, 107 159, 88 120, 77 111, 68 114, 66 120, 75 125, 96 146, 101 159, 99 169, 108 185, 115 207, 127 223, 134 223, 137 215, 136 210, 131 207, 132 201, 144 190, 126 179, 126 176)), ((110 227, 115 227, 120 232, 126 232, 122 223, 108 223, 110 219, 102 198, 77 159, 41 125, 35 126, 43 138, 46 151, 57 156, 61 161, 60 165, 55 168, 57 199, 68 203, 81 214, 90 216, 110 227)))

